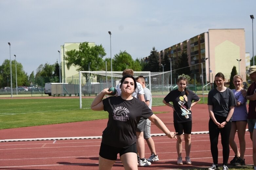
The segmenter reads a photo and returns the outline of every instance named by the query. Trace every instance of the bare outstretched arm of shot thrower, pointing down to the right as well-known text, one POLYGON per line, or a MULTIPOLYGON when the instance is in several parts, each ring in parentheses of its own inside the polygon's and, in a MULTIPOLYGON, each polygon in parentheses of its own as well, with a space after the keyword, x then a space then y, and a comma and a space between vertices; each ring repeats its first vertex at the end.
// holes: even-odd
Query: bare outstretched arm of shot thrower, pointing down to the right
POLYGON ((164 122, 162 122, 162 120, 159 119, 155 114, 150 116, 148 119, 153 122, 160 130, 162 130, 168 136, 168 138, 175 138, 177 140, 177 137, 175 136, 177 133, 170 132, 169 129, 165 126, 164 122))

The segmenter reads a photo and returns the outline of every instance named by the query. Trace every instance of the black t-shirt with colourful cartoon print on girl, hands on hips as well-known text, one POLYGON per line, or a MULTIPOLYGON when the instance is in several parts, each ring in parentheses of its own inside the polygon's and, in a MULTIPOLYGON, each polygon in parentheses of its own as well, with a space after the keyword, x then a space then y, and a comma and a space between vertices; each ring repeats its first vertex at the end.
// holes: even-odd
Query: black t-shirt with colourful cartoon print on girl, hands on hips
POLYGON ((178 89, 167 94, 164 100, 169 103, 172 102, 175 111, 173 111, 173 122, 181 123, 192 120, 191 103, 192 100, 198 101, 200 98, 191 90, 180 92, 178 89))

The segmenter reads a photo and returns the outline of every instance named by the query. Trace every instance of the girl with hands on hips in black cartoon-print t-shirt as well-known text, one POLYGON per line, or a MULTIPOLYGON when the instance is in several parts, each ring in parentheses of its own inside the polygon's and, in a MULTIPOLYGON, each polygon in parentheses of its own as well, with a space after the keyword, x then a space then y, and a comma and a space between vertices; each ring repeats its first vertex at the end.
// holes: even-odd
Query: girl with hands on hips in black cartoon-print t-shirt
POLYGON ((190 160, 192 112, 191 107, 196 105, 200 98, 191 90, 187 89, 187 78, 181 76, 177 80, 178 89, 172 90, 164 98, 163 103, 173 109, 173 122, 177 134, 176 149, 178 154, 177 164, 183 165, 182 141, 183 132, 185 138, 186 164, 192 164, 190 160), (172 104, 170 103, 172 102, 172 104))

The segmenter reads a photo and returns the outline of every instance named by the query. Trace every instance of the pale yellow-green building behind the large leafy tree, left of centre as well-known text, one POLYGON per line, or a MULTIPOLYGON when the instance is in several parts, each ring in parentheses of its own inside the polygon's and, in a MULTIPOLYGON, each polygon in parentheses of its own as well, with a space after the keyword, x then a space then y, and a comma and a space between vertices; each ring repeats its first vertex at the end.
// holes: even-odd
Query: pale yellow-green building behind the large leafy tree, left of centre
MULTIPOLYGON (((70 50, 78 50, 79 45, 82 42, 65 42, 64 45, 61 45, 61 75, 63 83, 72 83, 79 84, 79 72, 76 71, 75 66, 70 66, 69 70, 64 60, 64 56, 66 56, 66 52, 70 50)), ((94 42, 89 42, 89 46, 95 46, 94 42)))

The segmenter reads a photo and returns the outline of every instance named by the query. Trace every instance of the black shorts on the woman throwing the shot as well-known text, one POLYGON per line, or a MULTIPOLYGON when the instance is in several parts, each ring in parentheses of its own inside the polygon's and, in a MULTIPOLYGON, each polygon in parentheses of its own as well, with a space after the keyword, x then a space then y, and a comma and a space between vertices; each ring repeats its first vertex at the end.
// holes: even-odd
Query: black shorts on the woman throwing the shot
POLYGON ((109 145, 101 143, 99 155, 102 158, 115 161, 117 159, 118 153, 119 153, 119 156, 121 157, 123 154, 128 153, 128 152, 137 153, 136 143, 132 144, 131 146, 126 146, 123 148, 109 146, 109 145))

